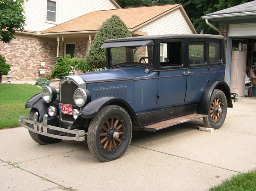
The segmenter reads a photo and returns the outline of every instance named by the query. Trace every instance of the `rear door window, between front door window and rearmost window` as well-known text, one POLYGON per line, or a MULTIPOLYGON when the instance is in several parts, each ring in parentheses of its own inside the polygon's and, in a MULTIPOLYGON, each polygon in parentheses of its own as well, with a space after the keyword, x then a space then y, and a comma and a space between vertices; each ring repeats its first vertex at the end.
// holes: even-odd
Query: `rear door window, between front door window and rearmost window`
POLYGON ((205 64, 205 43, 203 41, 189 42, 189 65, 205 64))

